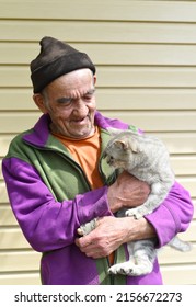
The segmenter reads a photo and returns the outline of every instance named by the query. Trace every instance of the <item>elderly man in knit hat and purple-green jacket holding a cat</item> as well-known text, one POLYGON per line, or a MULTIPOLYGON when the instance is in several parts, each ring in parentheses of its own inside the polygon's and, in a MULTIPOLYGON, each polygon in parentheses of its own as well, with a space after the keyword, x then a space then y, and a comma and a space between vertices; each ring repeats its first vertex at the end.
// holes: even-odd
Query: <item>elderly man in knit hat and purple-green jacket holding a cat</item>
POLYGON ((193 215, 189 194, 175 182, 154 213, 139 220, 116 218, 118 209, 138 206, 149 194, 145 182, 126 172, 116 179, 103 163, 108 127, 129 125, 96 111, 95 67, 87 54, 53 37, 41 46, 31 77, 44 114, 12 140, 3 174, 21 229, 43 253, 43 284, 162 284, 157 260, 143 276, 107 271, 126 261, 126 242, 155 237, 161 247, 184 231, 193 215), (96 228, 80 238, 77 229, 95 217, 96 228))

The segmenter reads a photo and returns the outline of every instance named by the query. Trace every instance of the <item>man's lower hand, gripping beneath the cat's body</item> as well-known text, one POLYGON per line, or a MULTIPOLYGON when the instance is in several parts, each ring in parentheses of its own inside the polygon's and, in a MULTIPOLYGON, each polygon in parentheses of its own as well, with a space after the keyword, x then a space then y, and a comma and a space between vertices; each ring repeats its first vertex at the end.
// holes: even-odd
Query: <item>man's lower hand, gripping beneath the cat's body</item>
POLYGON ((154 236, 153 227, 145 218, 105 216, 92 232, 76 239, 76 245, 87 257, 96 259, 109 255, 125 242, 154 236))

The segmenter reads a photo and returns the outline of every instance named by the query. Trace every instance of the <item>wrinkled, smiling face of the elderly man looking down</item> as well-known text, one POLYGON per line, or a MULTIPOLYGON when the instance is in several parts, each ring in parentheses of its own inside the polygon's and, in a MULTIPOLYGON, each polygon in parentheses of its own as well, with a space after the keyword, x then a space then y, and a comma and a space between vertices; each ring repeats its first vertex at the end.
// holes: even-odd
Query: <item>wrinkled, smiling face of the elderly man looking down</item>
POLYGON ((82 139, 94 133, 95 77, 89 69, 64 75, 48 84, 38 107, 51 118, 50 129, 66 137, 82 139))

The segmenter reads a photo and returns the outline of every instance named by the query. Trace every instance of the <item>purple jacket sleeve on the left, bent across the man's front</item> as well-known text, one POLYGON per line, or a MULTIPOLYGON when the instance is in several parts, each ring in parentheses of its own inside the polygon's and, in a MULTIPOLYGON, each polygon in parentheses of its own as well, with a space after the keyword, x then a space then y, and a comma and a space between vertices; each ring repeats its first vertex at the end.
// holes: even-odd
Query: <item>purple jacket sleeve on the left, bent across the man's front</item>
POLYGON ((96 216, 112 215, 106 186, 60 203, 27 162, 7 158, 2 171, 13 213, 25 238, 37 251, 73 243, 81 224, 96 216))

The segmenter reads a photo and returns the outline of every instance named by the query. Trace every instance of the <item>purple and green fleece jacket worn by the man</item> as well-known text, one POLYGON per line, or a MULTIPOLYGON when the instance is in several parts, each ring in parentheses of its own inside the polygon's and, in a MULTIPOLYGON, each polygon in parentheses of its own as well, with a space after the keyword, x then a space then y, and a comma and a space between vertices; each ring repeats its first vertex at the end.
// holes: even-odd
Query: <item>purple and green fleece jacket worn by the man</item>
MULTIPOLYGON (((85 174, 69 151, 49 133, 48 115, 33 129, 16 136, 3 159, 2 170, 13 213, 34 250, 42 252, 41 276, 45 285, 162 284, 158 260, 152 273, 138 276, 107 274, 108 259, 93 260, 74 245, 77 228, 94 217, 112 215, 107 203, 111 173, 102 170, 105 185, 91 191, 85 174)), ((102 151, 109 135, 107 127, 127 129, 118 120, 95 114, 101 127, 102 151)), ((113 178, 114 180, 114 178, 113 178)), ((193 216, 187 191, 177 182, 161 206, 146 218, 159 239, 166 245, 177 232, 185 231, 193 216)), ((115 261, 126 261, 126 245, 115 252, 115 261)))

